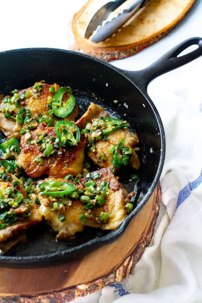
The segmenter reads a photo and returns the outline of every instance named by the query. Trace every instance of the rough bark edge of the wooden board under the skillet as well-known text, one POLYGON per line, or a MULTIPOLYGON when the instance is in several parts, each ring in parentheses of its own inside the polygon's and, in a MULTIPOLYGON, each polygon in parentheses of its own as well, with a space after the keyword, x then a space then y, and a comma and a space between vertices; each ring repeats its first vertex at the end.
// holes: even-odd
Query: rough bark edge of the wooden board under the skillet
POLYGON ((124 258, 124 260, 122 260, 120 264, 112 268, 107 275, 97 278, 93 281, 89 281, 88 283, 75 285, 74 287, 66 288, 60 291, 54 291, 50 294, 40 294, 37 296, 1 294, 0 303, 63 303, 75 300, 78 297, 86 296, 94 291, 101 290, 102 288, 113 282, 121 282, 122 279, 127 278, 133 270, 134 266, 141 258, 145 247, 147 247, 151 242, 161 203, 160 183, 157 185, 150 199, 153 200, 152 211, 154 213, 150 225, 145 226, 145 229, 137 245, 134 245, 131 251, 129 251, 127 256, 124 258))

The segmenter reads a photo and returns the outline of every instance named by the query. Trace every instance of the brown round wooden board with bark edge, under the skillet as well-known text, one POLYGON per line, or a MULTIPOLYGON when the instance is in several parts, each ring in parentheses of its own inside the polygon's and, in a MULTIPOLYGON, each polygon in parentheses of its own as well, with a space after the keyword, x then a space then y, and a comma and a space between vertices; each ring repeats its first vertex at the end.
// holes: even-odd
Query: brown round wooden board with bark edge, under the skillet
POLYGON ((0 303, 61 303, 126 278, 150 244, 161 201, 160 184, 124 235, 83 258, 34 269, 0 268, 0 303))

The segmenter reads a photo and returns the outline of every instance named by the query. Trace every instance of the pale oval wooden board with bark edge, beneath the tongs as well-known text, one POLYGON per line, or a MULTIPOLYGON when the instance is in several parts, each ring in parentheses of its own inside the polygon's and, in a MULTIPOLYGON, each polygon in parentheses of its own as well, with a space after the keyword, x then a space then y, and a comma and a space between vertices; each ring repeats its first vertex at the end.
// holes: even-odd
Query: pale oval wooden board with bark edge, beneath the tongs
POLYGON ((184 18, 194 1, 151 0, 115 35, 94 43, 84 39, 84 32, 91 17, 106 1, 88 0, 73 18, 75 45, 71 49, 105 61, 134 55, 168 34, 184 18))

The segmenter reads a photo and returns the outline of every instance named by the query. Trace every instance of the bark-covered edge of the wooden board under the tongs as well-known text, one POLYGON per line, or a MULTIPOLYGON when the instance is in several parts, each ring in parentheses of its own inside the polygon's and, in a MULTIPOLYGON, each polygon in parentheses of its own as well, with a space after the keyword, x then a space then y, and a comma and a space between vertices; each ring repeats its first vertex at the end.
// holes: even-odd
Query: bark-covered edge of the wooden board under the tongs
POLYGON ((188 11, 194 4, 195 0, 191 0, 190 4, 184 9, 184 12, 175 19, 168 27, 163 28, 161 31, 157 32, 155 35, 148 37, 147 39, 144 39, 138 43, 131 44, 131 45, 124 45, 119 47, 93 47, 91 45, 88 45, 87 42, 85 42, 85 39, 81 38, 80 35, 77 33, 77 29, 75 26, 75 21, 77 18, 79 18, 79 15, 84 10, 85 4, 83 8, 81 8, 74 16, 72 20, 72 31, 75 36, 75 44, 70 47, 70 50, 76 51, 76 52, 84 52, 85 54, 94 56, 96 58, 102 59, 104 61, 112 61, 117 59, 124 59, 127 57, 130 57, 137 52, 140 52, 144 48, 154 44, 161 38, 165 37, 168 33, 170 33, 187 15, 188 11))

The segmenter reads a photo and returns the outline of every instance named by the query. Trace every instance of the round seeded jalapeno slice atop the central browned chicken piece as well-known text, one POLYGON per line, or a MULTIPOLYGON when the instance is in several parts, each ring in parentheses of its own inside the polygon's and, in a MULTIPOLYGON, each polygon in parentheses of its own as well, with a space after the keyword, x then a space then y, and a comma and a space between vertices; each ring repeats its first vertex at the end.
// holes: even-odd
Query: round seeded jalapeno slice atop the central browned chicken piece
POLYGON ((73 122, 59 121, 55 124, 55 133, 62 145, 76 145, 80 140, 80 131, 73 122))

